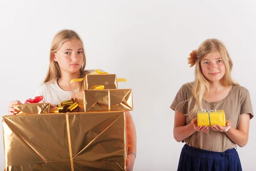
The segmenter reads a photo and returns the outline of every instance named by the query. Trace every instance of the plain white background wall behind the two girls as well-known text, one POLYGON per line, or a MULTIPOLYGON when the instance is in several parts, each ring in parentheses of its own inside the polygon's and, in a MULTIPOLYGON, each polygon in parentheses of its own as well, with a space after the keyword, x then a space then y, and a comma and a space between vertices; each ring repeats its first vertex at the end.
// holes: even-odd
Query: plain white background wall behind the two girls
MULTIPOLYGON (((173 171, 183 143, 173 138, 169 108, 180 86, 193 81, 187 57, 207 38, 225 43, 233 78, 250 91, 256 111, 256 2, 253 0, 0 0, 0 109, 33 98, 43 81, 53 36, 61 29, 81 35, 87 69, 127 78, 137 128, 134 171, 173 171)), ((256 121, 238 148, 244 171, 255 167, 256 121)), ((0 169, 4 168, 0 136, 0 169)))

